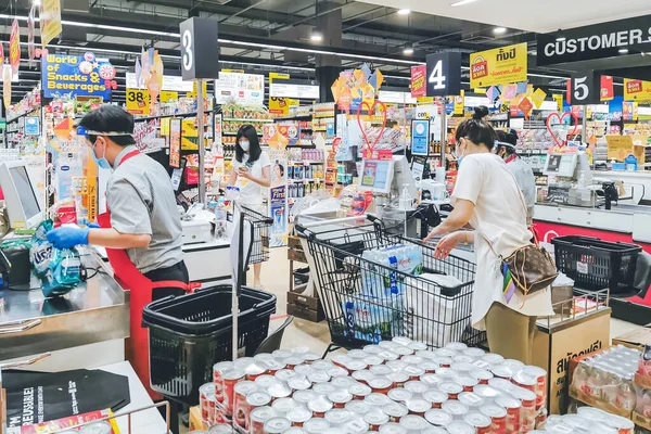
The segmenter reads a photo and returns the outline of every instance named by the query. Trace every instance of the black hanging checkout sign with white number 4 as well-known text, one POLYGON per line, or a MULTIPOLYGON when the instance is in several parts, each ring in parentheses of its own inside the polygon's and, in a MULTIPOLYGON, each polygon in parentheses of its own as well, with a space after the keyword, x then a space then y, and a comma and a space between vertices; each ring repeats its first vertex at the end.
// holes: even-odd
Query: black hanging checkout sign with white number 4
POLYGON ((427 97, 461 93, 461 53, 427 54, 427 97))

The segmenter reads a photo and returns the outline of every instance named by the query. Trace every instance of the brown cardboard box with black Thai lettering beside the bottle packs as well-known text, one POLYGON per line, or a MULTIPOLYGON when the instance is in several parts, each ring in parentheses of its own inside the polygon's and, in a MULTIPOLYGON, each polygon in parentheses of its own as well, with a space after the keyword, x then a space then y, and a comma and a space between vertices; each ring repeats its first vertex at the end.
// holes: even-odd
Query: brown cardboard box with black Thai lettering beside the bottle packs
POLYGON ((548 372, 550 414, 567 411, 571 360, 610 346, 610 308, 604 308, 549 327, 538 324, 533 362, 548 372))

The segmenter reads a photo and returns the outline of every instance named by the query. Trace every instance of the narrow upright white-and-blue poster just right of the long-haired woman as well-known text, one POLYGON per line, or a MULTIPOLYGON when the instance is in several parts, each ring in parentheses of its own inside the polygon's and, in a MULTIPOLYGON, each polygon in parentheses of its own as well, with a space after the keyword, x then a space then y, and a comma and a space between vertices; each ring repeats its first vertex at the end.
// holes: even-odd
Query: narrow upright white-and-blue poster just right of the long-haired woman
POLYGON ((271 247, 288 244, 288 159, 284 150, 271 153, 271 187, 269 188, 269 217, 271 247))

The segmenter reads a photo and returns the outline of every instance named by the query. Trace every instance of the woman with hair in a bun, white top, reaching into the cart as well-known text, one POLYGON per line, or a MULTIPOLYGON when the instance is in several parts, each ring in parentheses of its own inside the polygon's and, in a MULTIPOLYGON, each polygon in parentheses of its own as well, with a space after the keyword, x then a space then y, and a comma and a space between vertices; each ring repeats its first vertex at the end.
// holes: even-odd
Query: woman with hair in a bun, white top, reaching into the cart
POLYGON ((532 233, 518 183, 505 161, 492 153, 495 138, 493 128, 483 120, 468 119, 459 125, 455 209, 425 241, 446 234, 436 246, 435 255, 441 259, 459 243, 474 242, 472 324, 486 330, 492 352, 531 363, 536 317, 553 315, 551 292, 544 290, 526 297, 519 290, 510 297, 502 292, 497 255, 507 257, 528 244, 532 233), (474 231, 459 231, 468 224, 474 231))

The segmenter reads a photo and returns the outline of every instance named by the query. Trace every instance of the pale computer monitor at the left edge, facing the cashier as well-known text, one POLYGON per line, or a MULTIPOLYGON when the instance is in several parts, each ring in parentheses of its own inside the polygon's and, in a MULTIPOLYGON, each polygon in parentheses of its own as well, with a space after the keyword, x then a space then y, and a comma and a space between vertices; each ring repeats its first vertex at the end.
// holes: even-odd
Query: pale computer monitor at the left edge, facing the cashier
POLYGON ((0 164, 0 188, 12 229, 34 228, 43 219, 42 205, 24 162, 0 164))

